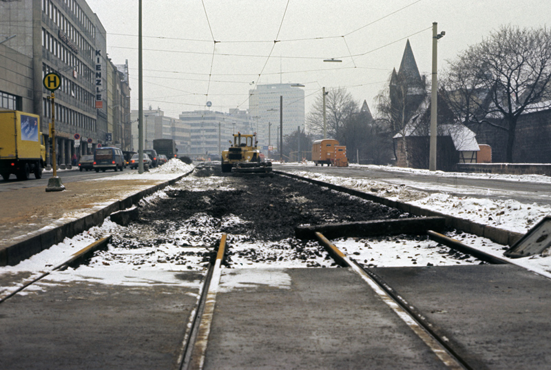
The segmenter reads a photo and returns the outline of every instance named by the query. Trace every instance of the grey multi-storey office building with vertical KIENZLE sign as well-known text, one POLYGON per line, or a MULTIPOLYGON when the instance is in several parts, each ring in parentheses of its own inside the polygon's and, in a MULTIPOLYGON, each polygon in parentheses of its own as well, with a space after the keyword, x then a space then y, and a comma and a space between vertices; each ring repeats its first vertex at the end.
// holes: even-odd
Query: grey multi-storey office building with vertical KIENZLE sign
MULTIPOLYGON (((45 136, 52 105, 43 77, 50 72, 61 76, 61 86, 54 93, 58 163, 70 163, 72 154, 91 153, 105 145, 110 119, 106 32, 87 3, 0 1, 0 34, 12 37, 0 45, 6 61, 0 63, 0 70, 6 70, 0 73, 0 94, 10 96, 16 109, 41 116, 45 136), (81 139, 76 140, 75 134, 81 139)), ((113 91, 111 100, 120 101, 123 90, 113 91)))

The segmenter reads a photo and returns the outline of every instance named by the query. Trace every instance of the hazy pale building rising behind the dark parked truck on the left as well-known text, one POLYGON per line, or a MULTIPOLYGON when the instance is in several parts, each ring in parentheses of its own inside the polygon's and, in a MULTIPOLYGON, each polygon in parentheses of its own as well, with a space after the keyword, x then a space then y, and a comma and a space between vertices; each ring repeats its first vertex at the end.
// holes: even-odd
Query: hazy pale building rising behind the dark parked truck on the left
MULTIPOLYGON (((132 110, 132 150, 138 151, 138 110, 132 110)), ((156 138, 171 138, 176 143, 178 154, 189 153, 189 123, 165 116, 165 112, 160 110, 143 111, 143 148, 153 149, 153 141, 156 138)))

